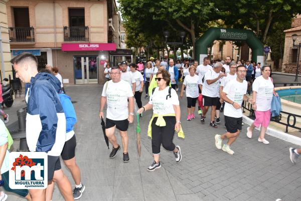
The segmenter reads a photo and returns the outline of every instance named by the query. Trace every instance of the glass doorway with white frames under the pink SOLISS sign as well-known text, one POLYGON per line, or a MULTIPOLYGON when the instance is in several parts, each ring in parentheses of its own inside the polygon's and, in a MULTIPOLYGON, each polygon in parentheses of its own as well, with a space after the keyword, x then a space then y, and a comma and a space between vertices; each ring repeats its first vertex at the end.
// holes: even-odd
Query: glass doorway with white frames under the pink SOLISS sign
POLYGON ((98 83, 98 57, 74 56, 75 84, 98 83))

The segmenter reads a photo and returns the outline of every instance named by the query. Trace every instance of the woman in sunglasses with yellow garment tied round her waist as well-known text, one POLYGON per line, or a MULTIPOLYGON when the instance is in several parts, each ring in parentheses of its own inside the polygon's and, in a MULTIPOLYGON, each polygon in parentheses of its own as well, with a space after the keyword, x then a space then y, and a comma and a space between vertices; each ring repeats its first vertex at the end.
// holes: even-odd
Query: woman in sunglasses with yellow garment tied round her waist
POLYGON ((138 109, 137 113, 141 114, 146 110, 153 109, 153 116, 148 124, 147 135, 152 138, 152 150, 154 162, 147 170, 154 171, 161 167, 160 163, 160 146, 169 151, 173 151, 176 162, 182 159, 180 146, 173 143, 175 130, 179 137, 184 138, 184 133, 181 130, 181 110, 179 98, 176 90, 169 87, 171 78, 167 70, 158 71, 157 77, 158 87, 150 96, 149 102, 142 108, 138 109), (182 135, 181 135, 182 134, 182 135))

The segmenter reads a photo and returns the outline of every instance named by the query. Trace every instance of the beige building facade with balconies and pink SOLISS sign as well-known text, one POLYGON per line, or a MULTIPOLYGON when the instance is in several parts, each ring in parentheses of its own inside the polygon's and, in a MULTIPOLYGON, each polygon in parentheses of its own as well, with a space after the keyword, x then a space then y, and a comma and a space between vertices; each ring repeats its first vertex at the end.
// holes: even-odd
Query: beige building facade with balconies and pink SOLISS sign
POLYGON ((104 83, 103 64, 120 48, 115 0, 10 0, 6 8, 12 57, 32 52, 39 69, 58 67, 64 84, 104 83))

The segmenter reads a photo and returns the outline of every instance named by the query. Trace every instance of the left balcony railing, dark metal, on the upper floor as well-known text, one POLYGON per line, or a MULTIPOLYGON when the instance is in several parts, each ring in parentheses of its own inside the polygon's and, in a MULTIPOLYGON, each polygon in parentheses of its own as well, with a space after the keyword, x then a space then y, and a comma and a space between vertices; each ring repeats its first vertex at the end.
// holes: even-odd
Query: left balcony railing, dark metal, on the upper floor
POLYGON ((35 30, 33 27, 10 27, 11 42, 35 42, 35 30))

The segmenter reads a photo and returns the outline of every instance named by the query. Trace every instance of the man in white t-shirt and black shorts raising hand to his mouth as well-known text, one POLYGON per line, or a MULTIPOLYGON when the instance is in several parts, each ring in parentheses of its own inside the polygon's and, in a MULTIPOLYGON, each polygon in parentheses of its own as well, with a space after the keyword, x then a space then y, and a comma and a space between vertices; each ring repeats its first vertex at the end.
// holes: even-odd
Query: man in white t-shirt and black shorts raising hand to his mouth
POLYGON ((216 123, 214 122, 215 110, 217 102, 219 101, 218 93, 219 93, 219 85, 220 85, 220 78, 226 76, 226 74, 221 73, 222 64, 217 62, 214 64, 214 68, 208 70, 204 76, 204 83, 202 88, 202 95, 203 95, 203 114, 201 116, 201 122, 205 122, 206 113, 211 107, 211 121, 210 125, 214 128, 217 128, 216 123))

